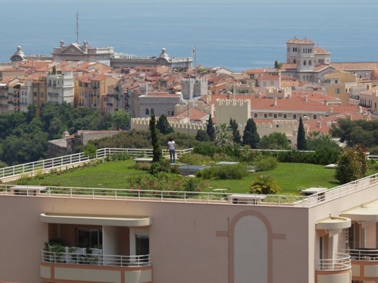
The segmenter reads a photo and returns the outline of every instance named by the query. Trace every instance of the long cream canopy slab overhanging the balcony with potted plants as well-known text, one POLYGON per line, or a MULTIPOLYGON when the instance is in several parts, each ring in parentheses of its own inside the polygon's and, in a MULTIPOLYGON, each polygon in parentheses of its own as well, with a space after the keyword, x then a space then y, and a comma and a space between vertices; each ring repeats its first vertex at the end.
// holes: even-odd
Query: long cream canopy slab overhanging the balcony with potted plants
POLYGON ((152 219, 148 216, 120 216, 120 215, 91 215, 41 213, 41 222, 56 224, 79 224, 100 226, 150 226, 152 219))

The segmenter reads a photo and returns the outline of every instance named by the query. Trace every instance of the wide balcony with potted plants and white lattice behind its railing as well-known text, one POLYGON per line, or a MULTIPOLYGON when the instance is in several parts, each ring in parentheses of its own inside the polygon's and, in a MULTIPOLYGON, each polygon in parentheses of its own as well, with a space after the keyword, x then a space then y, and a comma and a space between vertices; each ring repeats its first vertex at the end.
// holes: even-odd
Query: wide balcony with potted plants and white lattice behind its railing
POLYGON ((41 251, 41 282, 152 283, 151 255, 85 254, 85 248, 63 248, 71 253, 41 251))

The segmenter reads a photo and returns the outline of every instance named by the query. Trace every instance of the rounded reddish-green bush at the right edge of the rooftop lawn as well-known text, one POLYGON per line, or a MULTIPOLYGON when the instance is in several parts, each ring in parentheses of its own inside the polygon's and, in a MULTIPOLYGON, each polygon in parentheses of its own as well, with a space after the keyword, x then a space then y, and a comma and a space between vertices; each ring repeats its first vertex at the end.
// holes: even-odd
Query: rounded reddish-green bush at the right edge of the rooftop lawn
POLYGON ((339 155, 335 177, 345 184, 364 177, 367 170, 366 151, 361 146, 347 147, 339 155))

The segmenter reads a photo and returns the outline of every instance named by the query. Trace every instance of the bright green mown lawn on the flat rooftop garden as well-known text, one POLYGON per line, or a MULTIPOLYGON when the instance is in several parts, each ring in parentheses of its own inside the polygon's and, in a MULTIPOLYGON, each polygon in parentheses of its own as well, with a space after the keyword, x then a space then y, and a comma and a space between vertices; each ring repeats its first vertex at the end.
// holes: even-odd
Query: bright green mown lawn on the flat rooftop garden
MULTIPOLYGON (((134 161, 114 161, 102 163, 95 167, 80 168, 72 172, 32 180, 22 180, 26 185, 90 187, 90 188, 125 188, 125 177, 131 174, 148 174, 135 170, 134 161)), ((242 180, 205 180, 212 189, 228 189, 230 193, 249 193, 249 187, 257 175, 270 175, 282 189, 278 194, 298 194, 299 189, 310 187, 333 188, 338 185, 335 170, 324 166, 302 163, 279 163, 275 170, 250 173, 242 180)), ((20 183, 15 181, 12 183, 20 183)))

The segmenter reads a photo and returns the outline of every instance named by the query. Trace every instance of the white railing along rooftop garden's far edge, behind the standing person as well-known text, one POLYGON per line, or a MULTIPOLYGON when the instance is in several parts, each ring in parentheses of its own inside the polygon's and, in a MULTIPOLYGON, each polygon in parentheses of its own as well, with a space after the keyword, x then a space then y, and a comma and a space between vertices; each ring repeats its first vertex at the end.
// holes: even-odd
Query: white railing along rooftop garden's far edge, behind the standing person
MULTIPOLYGON (((181 157, 182 154, 188 153, 193 148, 176 150, 177 158, 181 157)), ((166 149, 162 151, 163 156, 169 155, 166 149)), ((44 170, 51 170, 61 168, 63 166, 75 165, 78 163, 89 162, 94 159, 102 159, 109 157, 111 155, 117 154, 129 154, 132 158, 134 157, 152 157, 153 149, 143 149, 143 148, 101 148, 97 149, 93 156, 89 156, 81 153, 65 155, 62 157, 50 158, 5 168, 0 168, 0 178, 12 177, 22 174, 31 174, 37 171, 43 172, 44 170)))

